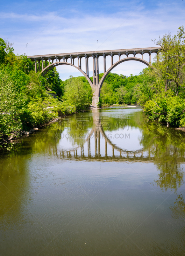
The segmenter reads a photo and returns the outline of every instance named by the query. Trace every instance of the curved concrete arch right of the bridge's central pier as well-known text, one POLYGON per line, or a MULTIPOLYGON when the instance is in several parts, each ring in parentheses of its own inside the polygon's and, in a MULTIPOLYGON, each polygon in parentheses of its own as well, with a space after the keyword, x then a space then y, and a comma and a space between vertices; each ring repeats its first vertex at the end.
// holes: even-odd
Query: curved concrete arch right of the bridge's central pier
POLYGON ((106 78, 106 76, 110 73, 110 71, 115 68, 117 65, 119 65, 120 63, 122 62, 125 62, 125 61, 128 61, 128 60, 136 60, 136 61, 139 61, 139 62, 142 62, 144 64, 146 64, 147 66, 152 66, 151 63, 149 63, 148 61, 146 60, 143 60, 143 59, 140 59, 140 58, 136 58, 136 57, 127 57, 127 58, 124 58, 122 60, 118 60, 116 63, 114 63, 109 69, 107 69, 107 71, 104 73, 104 75, 102 76, 99 84, 98 84, 98 94, 99 94, 99 97, 100 97, 100 91, 101 91, 101 88, 102 88, 102 85, 103 85, 103 82, 106 78))

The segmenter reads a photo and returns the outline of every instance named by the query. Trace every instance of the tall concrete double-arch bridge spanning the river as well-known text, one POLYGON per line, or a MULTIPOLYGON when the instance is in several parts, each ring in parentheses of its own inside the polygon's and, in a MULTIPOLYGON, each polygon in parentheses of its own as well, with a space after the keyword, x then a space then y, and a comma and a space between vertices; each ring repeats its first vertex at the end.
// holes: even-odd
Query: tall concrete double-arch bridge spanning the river
POLYGON ((136 60, 151 66, 151 54, 158 53, 161 47, 150 47, 150 48, 134 48, 134 49, 122 49, 122 50, 110 50, 110 51, 95 51, 95 52, 72 52, 72 53, 57 53, 57 54, 46 54, 46 55, 34 55, 28 56, 33 62, 35 62, 35 72, 41 71, 44 76, 52 68, 58 65, 69 65, 77 68, 88 80, 92 91, 93 91, 93 101, 92 106, 97 107, 99 101, 101 88, 106 76, 110 71, 122 62, 128 60, 136 60), (143 54, 149 54, 149 62, 143 59, 143 54), (129 57, 133 54, 133 57, 129 57), (136 55, 141 54, 141 58, 137 58, 136 55), (117 62, 113 62, 113 57, 119 56, 117 62), (121 59, 121 56, 125 55, 125 58, 121 59), (103 56, 103 77, 99 81, 99 57, 103 56), (106 57, 111 56, 111 66, 106 70, 106 57), (82 70, 82 58, 85 57, 85 70, 82 70), (89 77, 89 57, 93 58, 93 82, 89 77), (78 66, 75 66, 75 59, 78 59, 78 66), (40 61, 42 62, 42 70, 40 70, 40 61), (45 61, 45 68, 44 68, 45 61), (47 61, 49 65, 47 66, 47 61), (37 70, 37 63, 39 64, 39 70, 37 70))

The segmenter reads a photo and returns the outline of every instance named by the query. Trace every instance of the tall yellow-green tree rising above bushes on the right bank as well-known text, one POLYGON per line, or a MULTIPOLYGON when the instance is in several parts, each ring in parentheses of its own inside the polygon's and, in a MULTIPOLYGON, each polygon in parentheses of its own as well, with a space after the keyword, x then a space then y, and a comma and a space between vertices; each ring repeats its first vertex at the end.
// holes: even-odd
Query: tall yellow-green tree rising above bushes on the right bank
MULTIPOLYGON (((159 40, 154 40, 161 49, 155 58, 155 69, 157 76, 164 80, 164 90, 173 90, 175 95, 179 94, 184 85, 185 78, 185 40, 184 27, 180 27, 177 35, 165 34, 159 40)), ((184 89, 184 87, 183 87, 184 89)))

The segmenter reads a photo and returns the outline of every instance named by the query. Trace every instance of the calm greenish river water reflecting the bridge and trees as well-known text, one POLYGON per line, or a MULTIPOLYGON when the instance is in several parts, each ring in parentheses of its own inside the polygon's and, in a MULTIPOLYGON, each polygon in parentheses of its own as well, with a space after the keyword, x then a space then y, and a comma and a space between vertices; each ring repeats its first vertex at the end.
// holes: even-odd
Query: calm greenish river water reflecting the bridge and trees
POLYGON ((0 156, 1 256, 185 254, 185 134, 89 110, 0 156))

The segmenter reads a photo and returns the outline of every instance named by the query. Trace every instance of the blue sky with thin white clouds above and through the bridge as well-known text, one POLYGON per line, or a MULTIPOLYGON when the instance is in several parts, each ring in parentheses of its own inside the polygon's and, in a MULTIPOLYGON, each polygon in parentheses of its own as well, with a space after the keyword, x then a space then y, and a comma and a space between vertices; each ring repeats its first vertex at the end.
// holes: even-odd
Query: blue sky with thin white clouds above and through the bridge
MULTIPOLYGON (((0 37, 14 42, 16 54, 26 53, 26 43, 28 55, 96 51, 97 40, 99 50, 152 47, 151 39, 168 31, 174 35, 185 26, 185 0, 8 0, 0 7, 0 37)), ((147 55, 144 58, 148 60, 147 55)), ((143 68, 144 64, 129 61, 112 72, 129 76, 143 68)), ((57 70, 62 80, 82 75, 63 65, 57 70)))

